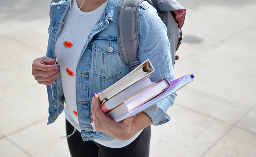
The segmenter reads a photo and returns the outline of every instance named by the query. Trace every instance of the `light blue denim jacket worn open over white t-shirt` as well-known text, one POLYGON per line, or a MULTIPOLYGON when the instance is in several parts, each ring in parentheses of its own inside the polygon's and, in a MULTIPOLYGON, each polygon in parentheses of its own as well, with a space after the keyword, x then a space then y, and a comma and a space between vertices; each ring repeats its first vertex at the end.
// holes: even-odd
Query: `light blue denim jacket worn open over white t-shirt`
MULTIPOLYGON (((47 57, 55 58, 54 46, 71 2, 72 0, 62 0, 59 3, 52 3, 47 57)), ((92 93, 103 91, 131 71, 130 66, 123 63, 117 45, 116 15, 118 3, 118 0, 108 0, 106 11, 102 14, 99 22, 95 24, 87 41, 84 41, 84 48, 76 67, 77 116, 84 141, 113 139, 113 137, 100 131, 92 132, 92 126, 88 124, 92 121, 89 116, 91 114, 92 93), (111 53, 107 51, 110 43, 114 49, 111 53)), ((138 60, 142 63, 149 59, 156 69, 151 75, 151 81, 158 81, 162 78, 174 79, 169 52, 170 43, 166 35, 167 29, 157 16, 155 8, 146 1, 140 5, 138 33, 138 60)), ((51 86, 47 86, 49 100, 47 124, 53 123, 63 111, 63 106, 53 100, 52 91, 53 97, 64 103, 60 74, 52 84, 52 89, 51 86)), ((152 125, 160 125, 170 120, 166 110, 173 105, 175 96, 176 94, 172 94, 144 111, 152 119, 152 125)))

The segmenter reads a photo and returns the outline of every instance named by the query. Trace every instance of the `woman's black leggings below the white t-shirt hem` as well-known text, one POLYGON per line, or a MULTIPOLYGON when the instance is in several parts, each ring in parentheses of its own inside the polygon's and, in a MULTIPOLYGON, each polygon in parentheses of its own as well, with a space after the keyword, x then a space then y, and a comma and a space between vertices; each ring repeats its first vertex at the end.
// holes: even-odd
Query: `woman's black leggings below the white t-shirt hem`
MULTIPOLYGON (((70 135, 74 127, 66 120, 66 132, 70 135)), ((151 136, 150 125, 128 146, 109 148, 94 141, 83 141, 81 133, 76 130, 74 135, 67 138, 72 157, 148 157, 151 136)))

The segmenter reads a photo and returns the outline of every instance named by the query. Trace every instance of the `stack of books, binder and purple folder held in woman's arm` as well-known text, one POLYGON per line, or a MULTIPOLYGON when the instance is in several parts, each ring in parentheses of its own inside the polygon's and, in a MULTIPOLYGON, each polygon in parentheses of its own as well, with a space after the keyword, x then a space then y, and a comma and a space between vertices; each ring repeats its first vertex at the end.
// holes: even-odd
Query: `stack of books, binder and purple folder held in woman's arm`
MULTIPOLYGON (((154 71, 150 61, 146 60, 102 91, 99 94, 101 110, 114 121, 120 122, 172 95, 194 78, 194 75, 188 74, 172 81, 163 78, 151 82, 149 77, 154 71)), ((90 124, 93 126, 93 122, 90 124)))

